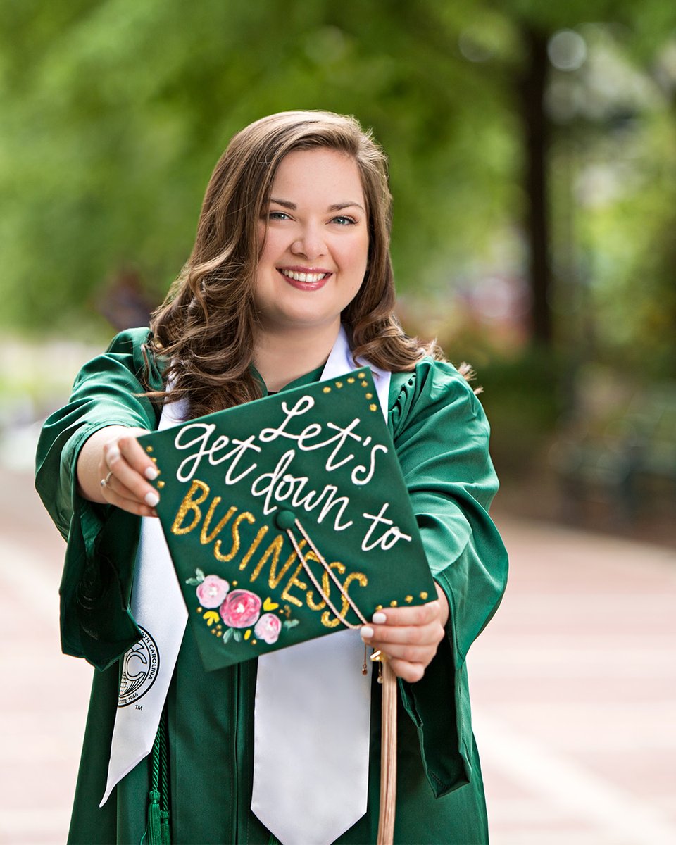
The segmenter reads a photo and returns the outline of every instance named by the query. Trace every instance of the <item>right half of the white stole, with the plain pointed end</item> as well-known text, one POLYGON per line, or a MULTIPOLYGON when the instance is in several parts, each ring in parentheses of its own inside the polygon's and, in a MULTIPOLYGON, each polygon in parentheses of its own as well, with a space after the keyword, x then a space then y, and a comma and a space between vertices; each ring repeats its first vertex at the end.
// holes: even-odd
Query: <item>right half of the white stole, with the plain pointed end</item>
MULTIPOLYGON (((341 327, 321 378, 354 368, 341 327)), ((390 373, 370 369, 387 419, 390 373)), ((282 845, 329 845, 366 812, 371 662, 366 675, 363 662, 358 630, 259 657, 251 810, 282 845)))

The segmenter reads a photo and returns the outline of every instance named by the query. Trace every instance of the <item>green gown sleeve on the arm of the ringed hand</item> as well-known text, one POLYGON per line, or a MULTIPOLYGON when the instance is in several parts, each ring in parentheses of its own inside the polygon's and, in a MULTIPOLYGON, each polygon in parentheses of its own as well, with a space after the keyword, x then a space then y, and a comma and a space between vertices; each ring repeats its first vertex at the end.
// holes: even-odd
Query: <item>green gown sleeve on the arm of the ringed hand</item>
MULTIPOLYGON (((144 393, 147 329, 117 335, 78 373, 68 404, 48 417, 35 459, 35 488, 68 541, 61 597, 63 652, 106 668, 140 638, 129 612, 139 518, 78 493, 76 466, 85 440, 110 425, 153 430, 157 413, 144 393)), ((161 389, 161 373, 150 384, 161 389)))

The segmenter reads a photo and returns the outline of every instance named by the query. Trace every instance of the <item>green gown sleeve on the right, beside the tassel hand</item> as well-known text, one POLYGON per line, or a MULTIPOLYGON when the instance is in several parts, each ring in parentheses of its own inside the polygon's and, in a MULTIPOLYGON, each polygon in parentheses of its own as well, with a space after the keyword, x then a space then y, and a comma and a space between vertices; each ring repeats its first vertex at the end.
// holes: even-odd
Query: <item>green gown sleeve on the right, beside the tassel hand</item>
POLYGON ((466 654, 499 606, 507 553, 488 516, 498 489, 488 421, 466 380, 452 365, 425 359, 414 373, 394 376, 392 389, 396 454, 430 570, 450 610, 446 637, 423 679, 400 680, 439 797, 472 777, 466 654))

